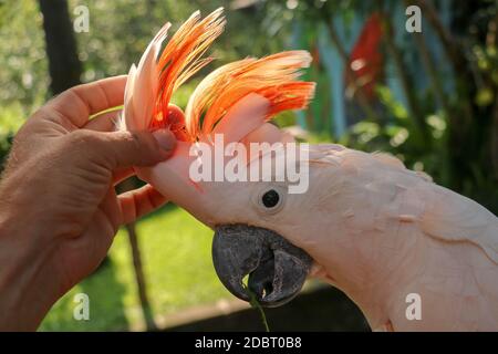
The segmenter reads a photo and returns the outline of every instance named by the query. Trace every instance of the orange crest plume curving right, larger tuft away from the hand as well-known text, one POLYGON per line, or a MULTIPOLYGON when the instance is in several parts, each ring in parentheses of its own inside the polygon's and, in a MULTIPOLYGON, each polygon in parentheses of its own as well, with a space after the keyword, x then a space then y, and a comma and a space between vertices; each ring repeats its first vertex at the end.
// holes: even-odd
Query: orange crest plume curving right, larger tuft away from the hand
POLYGON ((282 111, 304 108, 315 85, 300 82, 299 76, 310 62, 307 51, 289 51, 219 67, 206 76, 188 102, 185 112, 188 135, 195 140, 200 134, 209 134, 228 110, 250 93, 270 101, 267 119, 282 111))

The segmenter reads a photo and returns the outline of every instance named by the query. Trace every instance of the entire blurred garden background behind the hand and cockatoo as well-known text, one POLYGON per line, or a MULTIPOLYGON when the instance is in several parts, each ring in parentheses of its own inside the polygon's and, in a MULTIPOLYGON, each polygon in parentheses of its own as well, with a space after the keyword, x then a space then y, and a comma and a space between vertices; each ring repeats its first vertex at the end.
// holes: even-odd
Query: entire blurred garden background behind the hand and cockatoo
MULTIPOLYGON (((304 79, 318 83, 317 97, 307 112, 279 116, 280 126, 311 143, 392 153, 498 214, 495 0, 0 0, 0 160, 52 95, 127 73, 166 21, 176 29, 195 10, 220 6, 228 25, 210 51, 217 60, 174 103, 185 107, 221 64, 307 49, 313 63, 304 79), (409 6, 422 10, 422 33, 406 29, 409 6), (85 13, 87 31, 75 30, 85 13)), ((218 281, 210 242, 209 229, 175 206, 126 226, 41 331, 263 330, 258 311, 218 281), (73 319, 81 292, 90 321, 73 319)), ((314 282, 267 316, 270 330, 369 330, 341 292, 314 282)))

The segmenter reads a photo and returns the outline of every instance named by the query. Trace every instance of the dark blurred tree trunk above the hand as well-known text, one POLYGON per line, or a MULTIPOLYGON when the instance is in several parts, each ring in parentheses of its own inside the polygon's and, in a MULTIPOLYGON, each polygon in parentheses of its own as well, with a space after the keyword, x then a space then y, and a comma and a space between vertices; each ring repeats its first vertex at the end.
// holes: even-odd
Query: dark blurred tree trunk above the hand
POLYGON ((50 90, 56 95, 80 84, 82 65, 66 0, 39 0, 43 14, 46 55, 51 76, 50 90))

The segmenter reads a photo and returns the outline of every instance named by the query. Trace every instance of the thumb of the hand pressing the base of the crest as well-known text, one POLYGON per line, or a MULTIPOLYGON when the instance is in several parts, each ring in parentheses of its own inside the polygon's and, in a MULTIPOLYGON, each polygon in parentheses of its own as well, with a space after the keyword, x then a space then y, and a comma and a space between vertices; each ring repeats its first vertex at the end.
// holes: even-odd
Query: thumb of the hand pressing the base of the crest
POLYGON ((172 156, 176 146, 175 135, 168 129, 151 132, 98 133, 97 156, 103 157, 110 168, 152 166, 172 156))

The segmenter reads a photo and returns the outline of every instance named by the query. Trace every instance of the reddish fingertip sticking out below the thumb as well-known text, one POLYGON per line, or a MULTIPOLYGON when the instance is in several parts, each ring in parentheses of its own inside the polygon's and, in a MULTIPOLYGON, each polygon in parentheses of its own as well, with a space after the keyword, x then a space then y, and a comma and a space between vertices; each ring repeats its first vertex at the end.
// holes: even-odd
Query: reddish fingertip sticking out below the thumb
POLYGON ((166 198, 151 185, 145 185, 117 196, 117 201, 121 207, 122 223, 128 223, 165 205, 166 198))

